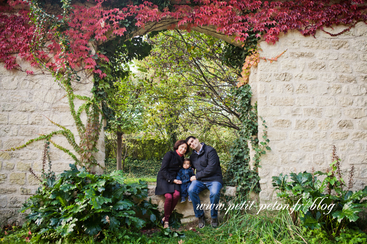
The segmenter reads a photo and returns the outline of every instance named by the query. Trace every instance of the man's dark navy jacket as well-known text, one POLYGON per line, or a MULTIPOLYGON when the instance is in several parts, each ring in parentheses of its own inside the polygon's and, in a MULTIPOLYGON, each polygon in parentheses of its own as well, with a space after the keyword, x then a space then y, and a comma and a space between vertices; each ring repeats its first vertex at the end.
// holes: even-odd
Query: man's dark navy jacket
POLYGON ((196 180, 224 184, 219 157, 214 148, 203 144, 199 155, 194 151, 191 153, 190 161, 196 169, 196 180))

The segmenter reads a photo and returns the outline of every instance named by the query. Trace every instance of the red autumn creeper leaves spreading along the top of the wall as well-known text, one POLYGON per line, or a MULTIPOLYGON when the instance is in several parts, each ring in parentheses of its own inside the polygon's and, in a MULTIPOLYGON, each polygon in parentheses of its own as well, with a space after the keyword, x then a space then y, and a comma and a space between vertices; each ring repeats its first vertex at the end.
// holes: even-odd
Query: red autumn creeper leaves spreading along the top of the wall
POLYGON ((235 41, 245 41, 248 32, 254 31, 272 43, 278 40, 281 32, 292 29, 303 35, 314 35, 325 26, 352 26, 358 21, 367 21, 365 0, 341 0, 338 4, 330 0, 175 0, 172 11, 168 8, 160 11, 150 1, 108 9, 103 7, 104 1, 74 5, 68 16, 55 17, 64 19, 69 25, 60 33, 64 40, 55 35, 55 30, 36 29, 30 22, 32 16, 29 16, 27 1, 1 2, 0 61, 7 69, 19 67, 17 57, 32 65, 40 61, 54 72, 62 72, 69 65, 74 69, 90 69, 103 78, 106 74, 96 65, 108 59, 95 52, 95 48, 113 36, 126 35, 121 21, 128 17, 135 18, 140 28, 149 22, 175 19, 177 27, 187 30, 192 26, 213 25, 217 32, 233 36, 235 41), (46 46, 35 45, 39 40, 46 46))

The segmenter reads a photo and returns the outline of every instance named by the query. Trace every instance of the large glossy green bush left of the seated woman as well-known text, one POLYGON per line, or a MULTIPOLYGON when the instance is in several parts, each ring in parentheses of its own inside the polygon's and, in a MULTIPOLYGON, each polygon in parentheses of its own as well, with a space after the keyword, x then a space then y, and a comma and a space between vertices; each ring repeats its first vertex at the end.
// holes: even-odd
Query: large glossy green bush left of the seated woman
POLYGON ((26 219, 37 233, 32 241, 96 235, 101 230, 138 230, 147 223, 157 222, 158 210, 145 200, 146 183, 125 184, 120 171, 93 175, 84 167, 64 171, 60 179, 40 187, 36 195, 24 203, 30 209, 26 219), (148 215, 148 221, 137 215, 148 215))

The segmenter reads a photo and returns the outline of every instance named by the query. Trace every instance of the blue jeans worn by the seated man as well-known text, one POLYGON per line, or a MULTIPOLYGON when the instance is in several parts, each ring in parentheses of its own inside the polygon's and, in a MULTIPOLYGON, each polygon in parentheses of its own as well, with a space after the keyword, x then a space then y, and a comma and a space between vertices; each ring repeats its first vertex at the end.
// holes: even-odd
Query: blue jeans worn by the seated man
POLYGON ((216 219, 218 218, 218 204, 219 197, 221 195, 220 191, 222 189, 222 184, 219 182, 201 182, 198 180, 191 182, 190 187, 188 187, 188 195, 190 196, 192 205, 194 206, 195 217, 199 218, 204 214, 204 210, 198 209, 198 205, 201 205, 199 193, 205 189, 209 189, 210 191, 209 198, 210 204, 212 204, 210 207, 211 218, 216 219))

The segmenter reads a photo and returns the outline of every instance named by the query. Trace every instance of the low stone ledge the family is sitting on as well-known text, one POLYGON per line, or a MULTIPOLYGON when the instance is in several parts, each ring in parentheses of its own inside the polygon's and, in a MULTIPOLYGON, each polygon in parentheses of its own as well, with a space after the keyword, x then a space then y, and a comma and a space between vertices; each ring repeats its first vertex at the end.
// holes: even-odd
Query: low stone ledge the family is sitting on
MULTIPOLYGON (((158 205, 158 209, 160 211, 163 210, 163 206, 164 206, 164 196, 163 195, 155 195, 155 188, 156 185, 148 185, 148 199, 151 198, 152 199, 152 203, 157 204, 158 205)), ((225 193, 223 193, 223 189, 221 191, 221 198, 222 196, 232 196, 234 197, 236 194, 236 187, 232 187, 232 186, 225 186, 224 188, 226 188, 225 193)), ((200 196, 200 201, 201 203, 205 203, 205 204, 209 204, 210 205, 210 199, 209 199, 209 190, 204 190, 202 191, 199 196, 200 196)), ((221 203, 221 202, 219 202, 221 203)), ((195 218, 195 213, 194 213, 194 209, 192 206, 192 203, 186 201, 184 203, 177 203, 176 207, 175 207, 176 211, 183 214, 184 218, 181 219, 181 223, 187 223, 187 222, 192 222, 195 221, 197 218, 195 218)), ((222 211, 222 214, 220 213, 220 211, 218 211, 218 218, 221 219, 223 218, 225 211, 222 211)), ((205 216, 206 219, 210 220, 210 210, 205 210, 205 216)))

